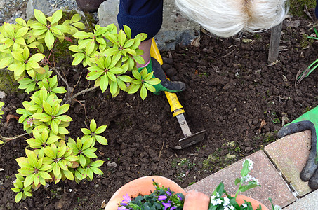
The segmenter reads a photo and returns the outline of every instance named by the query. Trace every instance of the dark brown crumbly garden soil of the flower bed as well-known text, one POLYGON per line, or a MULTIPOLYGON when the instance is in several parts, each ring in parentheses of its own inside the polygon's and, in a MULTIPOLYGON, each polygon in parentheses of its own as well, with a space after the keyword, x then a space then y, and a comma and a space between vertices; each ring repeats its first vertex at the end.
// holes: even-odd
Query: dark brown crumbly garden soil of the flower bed
MULTIPOLYGON (((67 112, 74 120, 69 136, 82 136, 86 118, 81 104, 85 104, 89 120, 107 125, 103 136, 108 146, 97 145, 98 160, 105 160, 104 175, 79 185, 50 183, 15 204, 11 191, 18 170, 15 158, 25 155, 27 143, 23 138, 8 141, 0 148, 0 209, 101 209, 103 200, 140 176, 166 176, 185 188, 264 148, 275 140, 283 120, 290 122, 318 104, 318 71, 294 85, 297 71, 317 59, 317 43, 306 38, 313 33, 313 23, 307 18, 284 21, 279 62, 271 66, 267 63, 270 31, 234 38, 202 33, 198 47, 162 53, 168 76, 187 85, 178 98, 190 129, 207 131, 206 139, 190 148, 171 148, 183 133, 164 95, 150 94, 142 101, 138 94, 121 92, 111 98, 110 92, 94 90, 77 97, 67 112)), ((70 58, 55 57, 71 86, 79 80, 74 90, 78 92, 88 87, 87 70, 70 66, 70 58)), ((60 85, 65 84, 60 81, 60 85)), ((6 96, 4 118, 18 115, 15 110, 27 99, 26 94, 6 96)), ((22 133, 15 118, 1 120, 1 135, 22 133)))

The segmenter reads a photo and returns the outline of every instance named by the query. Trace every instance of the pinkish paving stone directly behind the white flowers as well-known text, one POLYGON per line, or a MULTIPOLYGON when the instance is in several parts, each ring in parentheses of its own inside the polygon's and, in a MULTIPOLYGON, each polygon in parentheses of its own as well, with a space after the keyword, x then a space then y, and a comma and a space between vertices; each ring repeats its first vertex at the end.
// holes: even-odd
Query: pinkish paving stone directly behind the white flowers
MULTIPOLYGON (((269 209, 271 209, 271 204, 268 198, 272 198, 272 202, 280 207, 285 207, 296 201, 296 197, 293 196, 286 182, 263 151, 253 153, 246 158, 254 162, 254 167, 249 174, 258 179, 261 187, 239 193, 240 195, 252 197, 265 204, 269 209)), ((197 190, 210 196, 220 181, 223 181, 227 193, 236 193, 238 186, 234 185, 234 180, 241 177, 241 168, 244 160, 245 158, 194 183, 192 186, 185 188, 185 191, 197 190)))

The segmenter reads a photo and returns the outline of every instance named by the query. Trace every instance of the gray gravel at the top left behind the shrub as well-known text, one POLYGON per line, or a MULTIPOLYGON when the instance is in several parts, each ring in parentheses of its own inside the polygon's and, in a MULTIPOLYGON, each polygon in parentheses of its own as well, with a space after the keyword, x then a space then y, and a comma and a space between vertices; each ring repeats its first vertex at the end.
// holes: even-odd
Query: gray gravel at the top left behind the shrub
MULTIPOLYGON (((28 0, 0 0, 0 25, 4 22, 14 23, 15 18, 27 17, 28 0)), ((72 10, 77 7, 75 0, 48 0, 52 8, 65 8, 67 10, 72 10)))

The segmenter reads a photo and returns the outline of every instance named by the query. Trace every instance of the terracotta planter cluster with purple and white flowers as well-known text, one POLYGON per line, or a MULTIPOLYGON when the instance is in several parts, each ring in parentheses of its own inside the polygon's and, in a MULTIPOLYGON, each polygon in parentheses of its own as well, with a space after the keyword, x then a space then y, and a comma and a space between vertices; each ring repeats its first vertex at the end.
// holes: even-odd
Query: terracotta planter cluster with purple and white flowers
MULTIPOLYGON (((249 175, 252 168, 253 161, 244 160, 241 178, 235 180, 235 184, 239 185, 235 195, 227 194, 221 182, 211 197, 197 191, 185 193, 177 183, 162 176, 145 176, 119 188, 105 210, 268 210, 257 200, 239 195, 239 192, 260 186, 258 180, 249 175)), ((280 210, 281 207, 272 204, 272 209, 280 210)))

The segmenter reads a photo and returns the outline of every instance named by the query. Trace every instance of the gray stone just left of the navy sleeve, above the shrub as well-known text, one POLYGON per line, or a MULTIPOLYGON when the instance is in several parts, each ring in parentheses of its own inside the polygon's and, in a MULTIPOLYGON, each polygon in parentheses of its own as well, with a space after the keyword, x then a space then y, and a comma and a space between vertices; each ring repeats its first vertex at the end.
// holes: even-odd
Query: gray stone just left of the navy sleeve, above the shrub
POLYGON ((100 8, 98 8, 98 25, 102 27, 106 27, 114 23, 117 28, 117 14, 119 11, 119 0, 107 0, 100 4, 100 8))

